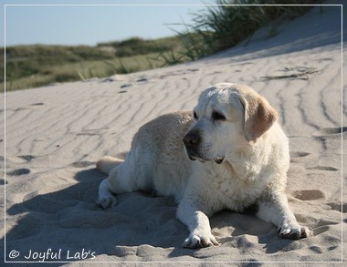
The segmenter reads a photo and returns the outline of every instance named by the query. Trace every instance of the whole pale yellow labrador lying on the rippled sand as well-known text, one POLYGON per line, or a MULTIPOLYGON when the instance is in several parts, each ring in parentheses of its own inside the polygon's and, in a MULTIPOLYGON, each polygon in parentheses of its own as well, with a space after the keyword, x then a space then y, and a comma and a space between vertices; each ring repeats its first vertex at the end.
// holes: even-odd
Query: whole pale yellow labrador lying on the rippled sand
POLYGON ((222 83, 208 87, 194 112, 155 118, 134 136, 125 160, 97 162, 109 177, 98 204, 114 206, 114 194, 155 190, 174 196, 176 217, 189 229, 186 248, 218 245, 208 217, 258 204, 258 218, 279 227, 279 236, 312 234, 300 226, 286 197, 289 142, 277 112, 252 88, 222 83))

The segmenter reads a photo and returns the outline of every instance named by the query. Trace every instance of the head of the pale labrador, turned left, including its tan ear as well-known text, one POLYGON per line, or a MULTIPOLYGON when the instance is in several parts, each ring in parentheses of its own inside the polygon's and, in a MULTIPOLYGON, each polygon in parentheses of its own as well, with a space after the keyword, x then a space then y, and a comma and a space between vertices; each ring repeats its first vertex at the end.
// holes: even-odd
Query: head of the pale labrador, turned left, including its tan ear
POLYGON ((208 87, 194 108, 195 123, 184 136, 189 159, 220 164, 232 149, 252 144, 272 126, 277 112, 250 87, 208 87))

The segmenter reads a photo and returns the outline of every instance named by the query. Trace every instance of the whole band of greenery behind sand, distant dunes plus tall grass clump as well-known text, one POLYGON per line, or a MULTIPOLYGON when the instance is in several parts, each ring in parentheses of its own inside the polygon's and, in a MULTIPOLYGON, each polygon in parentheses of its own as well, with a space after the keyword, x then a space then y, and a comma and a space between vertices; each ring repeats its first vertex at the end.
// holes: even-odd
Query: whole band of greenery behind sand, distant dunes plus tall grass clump
MULTIPOLYGON (((6 85, 4 75, 1 75, 0 87, 4 90, 6 86, 6 91, 40 87, 195 60, 245 40, 247 44, 262 26, 268 27, 268 37, 276 36, 280 23, 310 9, 310 6, 302 5, 303 2, 321 3, 318 0, 216 1, 218 5, 208 6, 205 11, 193 15, 194 24, 185 25, 185 31, 177 32, 173 37, 157 40, 132 37, 97 46, 6 47, 6 85)), ((4 62, 4 53, 0 60, 4 62)), ((5 73, 3 65, 0 73, 5 73)))

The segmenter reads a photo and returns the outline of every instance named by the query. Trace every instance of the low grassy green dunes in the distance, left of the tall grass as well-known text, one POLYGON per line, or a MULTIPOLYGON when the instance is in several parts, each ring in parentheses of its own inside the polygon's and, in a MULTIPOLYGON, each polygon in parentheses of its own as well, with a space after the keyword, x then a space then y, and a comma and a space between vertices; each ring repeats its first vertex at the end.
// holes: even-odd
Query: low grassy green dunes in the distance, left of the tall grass
MULTIPOLYGON (((98 46, 6 47, 6 91, 163 67, 164 55, 178 46, 178 37, 134 37, 98 46)), ((4 53, 0 60, 4 62, 4 53)), ((1 66, 0 73, 4 72, 1 66)), ((4 75, 0 77, 0 87, 4 90, 4 75)))

